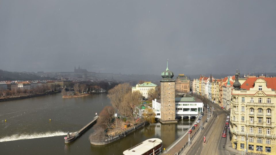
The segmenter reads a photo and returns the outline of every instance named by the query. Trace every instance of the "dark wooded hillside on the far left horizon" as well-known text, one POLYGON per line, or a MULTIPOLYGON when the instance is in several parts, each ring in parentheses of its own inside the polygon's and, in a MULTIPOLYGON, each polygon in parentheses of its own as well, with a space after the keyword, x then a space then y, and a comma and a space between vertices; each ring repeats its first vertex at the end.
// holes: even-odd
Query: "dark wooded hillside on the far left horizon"
POLYGON ((10 71, 3 71, 0 69, 0 81, 8 81, 8 80, 54 80, 54 78, 49 77, 40 77, 34 75, 32 73, 23 73, 23 72, 10 72, 10 71))

